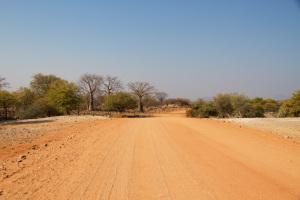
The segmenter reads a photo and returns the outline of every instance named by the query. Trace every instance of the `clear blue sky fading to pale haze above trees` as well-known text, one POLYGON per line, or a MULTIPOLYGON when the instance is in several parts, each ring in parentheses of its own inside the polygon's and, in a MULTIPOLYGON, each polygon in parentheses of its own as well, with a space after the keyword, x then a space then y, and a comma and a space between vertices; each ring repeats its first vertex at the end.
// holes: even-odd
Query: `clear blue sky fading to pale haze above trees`
POLYGON ((176 97, 300 89, 296 0, 0 1, 0 75, 149 81, 176 97))

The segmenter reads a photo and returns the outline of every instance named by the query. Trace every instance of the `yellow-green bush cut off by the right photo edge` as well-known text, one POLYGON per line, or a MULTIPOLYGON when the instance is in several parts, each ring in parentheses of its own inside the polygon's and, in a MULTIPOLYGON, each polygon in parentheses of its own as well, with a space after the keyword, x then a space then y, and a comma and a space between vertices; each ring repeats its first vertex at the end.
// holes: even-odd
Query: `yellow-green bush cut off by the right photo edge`
POLYGON ((279 117, 300 117, 300 90, 292 98, 283 102, 279 109, 279 117))

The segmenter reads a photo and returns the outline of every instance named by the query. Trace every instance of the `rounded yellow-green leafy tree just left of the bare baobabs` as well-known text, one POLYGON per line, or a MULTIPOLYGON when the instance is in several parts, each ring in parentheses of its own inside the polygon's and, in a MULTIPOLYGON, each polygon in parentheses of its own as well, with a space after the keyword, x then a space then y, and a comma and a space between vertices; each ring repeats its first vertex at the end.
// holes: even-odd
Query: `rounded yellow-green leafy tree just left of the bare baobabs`
POLYGON ((70 114, 80 103, 79 88, 73 83, 59 80, 51 84, 46 97, 61 113, 70 114))

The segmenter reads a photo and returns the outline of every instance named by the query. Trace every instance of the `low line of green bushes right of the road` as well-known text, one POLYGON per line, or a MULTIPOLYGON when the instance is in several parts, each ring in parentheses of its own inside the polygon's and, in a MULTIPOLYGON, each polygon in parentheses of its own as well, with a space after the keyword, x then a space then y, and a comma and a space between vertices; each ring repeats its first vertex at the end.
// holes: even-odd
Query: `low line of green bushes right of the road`
POLYGON ((187 111, 189 117, 300 117, 300 91, 288 100, 249 98, 242 94, 218 94, 213 100, 199 99, 187 111))

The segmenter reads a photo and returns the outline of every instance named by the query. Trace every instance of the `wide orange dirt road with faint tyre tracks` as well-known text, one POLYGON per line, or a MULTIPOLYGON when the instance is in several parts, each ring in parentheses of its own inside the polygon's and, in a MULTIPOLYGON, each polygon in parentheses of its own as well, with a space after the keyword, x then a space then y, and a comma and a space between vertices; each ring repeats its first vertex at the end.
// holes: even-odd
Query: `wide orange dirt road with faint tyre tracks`
POLYGON ((0 199, 300 199, 299 141, 181 116, 76 123, 0 163, 0 199))

